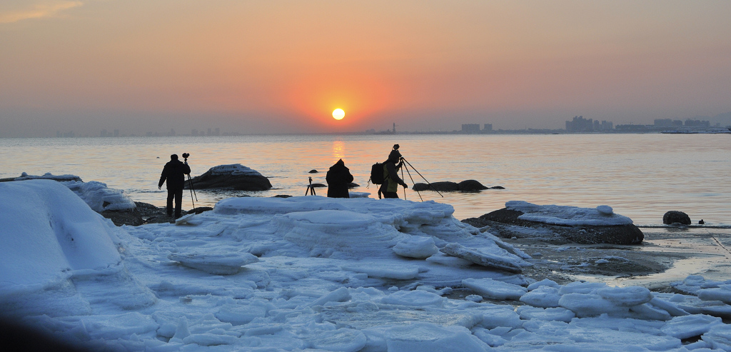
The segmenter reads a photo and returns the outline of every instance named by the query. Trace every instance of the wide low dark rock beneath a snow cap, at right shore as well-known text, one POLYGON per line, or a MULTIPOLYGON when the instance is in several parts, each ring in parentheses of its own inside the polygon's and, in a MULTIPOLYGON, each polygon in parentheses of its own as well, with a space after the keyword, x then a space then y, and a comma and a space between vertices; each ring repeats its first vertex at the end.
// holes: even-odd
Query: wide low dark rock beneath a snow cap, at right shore
POLYGON ((545 222, 534 222, 518 219, 523 211, 499 209, 479 218, 462 220, 477 228, 489 227, 489 231, 504 238, 537 238, 550 243, 578 244, 639 244, 645 239, 640 228, 633 224, 627 225, 582 225, 561 226, 550 225, 545 222))

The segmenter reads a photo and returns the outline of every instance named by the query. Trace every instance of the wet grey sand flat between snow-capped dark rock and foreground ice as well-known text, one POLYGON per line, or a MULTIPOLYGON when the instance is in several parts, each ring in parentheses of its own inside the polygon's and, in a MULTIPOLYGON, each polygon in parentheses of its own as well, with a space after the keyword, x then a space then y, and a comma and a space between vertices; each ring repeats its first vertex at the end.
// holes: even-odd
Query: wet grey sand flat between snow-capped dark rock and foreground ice
POLYGON ((731 229, 641 228, 639 245, 549 244, 535 239, 504 239, 533 257, 523 274, 558 283, 577 280, 608 285, 639 285, 673 292, 670 282, 688 275, 731 279, 731 229))

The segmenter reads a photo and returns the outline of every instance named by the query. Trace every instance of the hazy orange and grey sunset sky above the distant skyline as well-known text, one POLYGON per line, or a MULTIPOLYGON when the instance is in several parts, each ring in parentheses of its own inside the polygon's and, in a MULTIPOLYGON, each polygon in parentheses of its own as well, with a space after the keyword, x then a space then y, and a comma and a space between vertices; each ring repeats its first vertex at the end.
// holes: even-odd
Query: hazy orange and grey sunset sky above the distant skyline
POLYGON ((3 0, 0 137, 716 116, 731 111, 730 13, 731 1, 3 0))

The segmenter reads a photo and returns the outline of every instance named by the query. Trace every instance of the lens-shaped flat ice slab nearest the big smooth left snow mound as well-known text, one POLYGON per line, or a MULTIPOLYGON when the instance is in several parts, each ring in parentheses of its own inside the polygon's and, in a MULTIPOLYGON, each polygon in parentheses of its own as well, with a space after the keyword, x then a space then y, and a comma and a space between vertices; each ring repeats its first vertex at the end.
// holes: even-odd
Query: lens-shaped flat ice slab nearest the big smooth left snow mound
POLYGON ((246 264, 257 263, 259 258, 246 252, 218 253, 171 253, 167 256, 183 266, 214 275, 237 274, 246 264))

